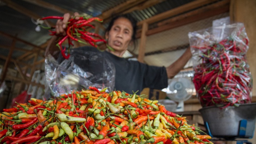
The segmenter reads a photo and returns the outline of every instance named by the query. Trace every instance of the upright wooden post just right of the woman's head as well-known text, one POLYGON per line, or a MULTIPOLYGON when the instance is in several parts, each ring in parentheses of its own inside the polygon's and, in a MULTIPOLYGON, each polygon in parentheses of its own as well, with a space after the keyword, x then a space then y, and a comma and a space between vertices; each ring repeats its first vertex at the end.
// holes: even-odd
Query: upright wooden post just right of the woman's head
POLYGON ((138 55, 138 61, 143 62, 144 56, 145 56, 145 47, 146 47, 146 39, 147 39, 147 30, 148 30, 148 23, 144 22, 142 24, 142 32, 140 37, 140 48, 139 48, 139 55, 138 55))

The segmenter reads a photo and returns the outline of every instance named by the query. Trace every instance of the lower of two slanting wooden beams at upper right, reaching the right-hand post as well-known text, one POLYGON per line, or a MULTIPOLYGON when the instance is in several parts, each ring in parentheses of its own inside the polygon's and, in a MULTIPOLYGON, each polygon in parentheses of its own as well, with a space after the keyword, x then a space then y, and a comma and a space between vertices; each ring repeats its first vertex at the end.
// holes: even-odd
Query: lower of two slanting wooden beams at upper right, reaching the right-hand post
POLYGON ((209 11, 203 12, 201 14, 196 14, 196 15, 193 15, 193 16, 189 16, 185 19, 181 19, 181 20, 175 21, 173 23, 168 23, 168 24, 165 24, 161 27, 157 27, 155 29, 150 29, 150 30, 147 31, 146 35, 152 35, 152 34, 160 33, 162 31, 170 30, 170 29, 173 29, 175 27, 183 26, 183 25, 186 25, 186 24, 189 24, 189 23, 196 22, 198 20, 209 18, 211 16, 223 14, 225 12, 229 12, 229 5, 223 5, 219 8, 209 10, 209 11))

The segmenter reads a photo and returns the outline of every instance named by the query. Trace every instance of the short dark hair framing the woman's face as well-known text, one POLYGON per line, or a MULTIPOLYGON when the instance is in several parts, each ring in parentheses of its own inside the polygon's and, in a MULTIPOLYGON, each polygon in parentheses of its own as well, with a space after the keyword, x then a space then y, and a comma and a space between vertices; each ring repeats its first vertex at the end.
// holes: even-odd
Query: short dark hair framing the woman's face
POLYGON ((133 41, 134 48, 136 48, 136 44, 137 44, 137 41, 136 41, 137 20, 136 20, 135 18, 133 18, 131 15, 122 14, 122 15, 117 15, 117 16, 113 17, 113 18, 111 19, 111 21, 109 22, 108 27, 107 27, 106 30, 105 30, 105 34, 108 33, 108 32, 111 30, 111 28, 112 28, 114 22, 115 22, 117 19, 119 19, 119 18, 126 18, 126 19, 128 19, 128 20, 131 22, 131 24, 132 24, 132 30, 133 30, 133 33, 132 33, 132 41, 133 41))

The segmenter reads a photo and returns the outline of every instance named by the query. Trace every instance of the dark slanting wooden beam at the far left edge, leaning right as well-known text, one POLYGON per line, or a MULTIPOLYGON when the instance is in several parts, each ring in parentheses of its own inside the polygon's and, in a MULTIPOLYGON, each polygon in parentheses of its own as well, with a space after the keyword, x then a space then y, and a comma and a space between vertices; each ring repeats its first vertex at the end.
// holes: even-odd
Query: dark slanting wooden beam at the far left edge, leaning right
MULTIPOLYGON (((16 39, 13 39, 13 40, 12 40, 12 45, 11 45, 10 51, 9 51, 9 53, 8 53, 8 57, 6 58, 6 61, 5 61, 5 63, 4 63, 3 72, 2 72, 2 76, 1 76, 1 84, 4 82, 6 73, 7 73, 7 71, 8 71, 8 65, 9 65, 9 62, 11 61, 12 52, 13 52, 13 50, 14 50, 15 44, 16 44, 16 39)), ((1 85, 1 84, 0 84, 0 85, 1 85)))

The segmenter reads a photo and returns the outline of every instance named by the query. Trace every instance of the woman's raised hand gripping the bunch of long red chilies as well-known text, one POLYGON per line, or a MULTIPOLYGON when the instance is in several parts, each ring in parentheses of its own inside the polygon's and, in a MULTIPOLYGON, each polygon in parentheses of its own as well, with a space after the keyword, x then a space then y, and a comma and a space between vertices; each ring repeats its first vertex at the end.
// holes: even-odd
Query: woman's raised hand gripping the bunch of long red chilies
POLYGON ((66 13, 63 15, 63 20, 59 19, 56 23, 56 34, 66 35, 65 29, 67 28, 68 20, 71 18, 75 18, 76 20, 79 19, 78 12, 75 12, 74 15, 70 15, 69 13, 66 13))

